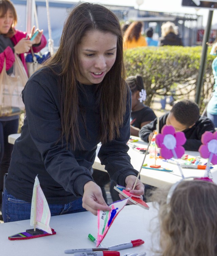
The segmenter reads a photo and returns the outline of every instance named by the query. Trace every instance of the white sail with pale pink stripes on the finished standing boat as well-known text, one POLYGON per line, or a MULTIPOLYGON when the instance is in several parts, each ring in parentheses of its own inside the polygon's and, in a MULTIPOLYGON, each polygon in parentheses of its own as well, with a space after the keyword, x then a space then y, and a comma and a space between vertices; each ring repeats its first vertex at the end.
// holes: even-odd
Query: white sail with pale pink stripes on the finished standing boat
POLYGON ((33 188, 30 225, 34 226, 34 228, 37 227, 49 234, 52 234, 52 230, 49 226, 50 219, 51 212, 44 193, 40 187, 38 177, 36 176, 33 188))

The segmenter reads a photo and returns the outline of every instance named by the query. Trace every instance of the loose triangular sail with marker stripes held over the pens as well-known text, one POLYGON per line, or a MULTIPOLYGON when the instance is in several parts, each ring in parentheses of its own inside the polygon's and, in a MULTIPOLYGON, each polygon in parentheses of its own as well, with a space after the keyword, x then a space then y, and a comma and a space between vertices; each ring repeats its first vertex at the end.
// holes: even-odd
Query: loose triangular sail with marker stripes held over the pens
POLYGON ((117 217, 118 213, 123 209, 126 205, 128 198, 123 200, 117 201, 109 205, 111 211, 101 211, 98 210, 97 218, 98 218, 98 235, 97 235, 97 244, 96 247, 104 239, 106 233, 108 232, 109 228, 111 227, 113 221, 117 217))

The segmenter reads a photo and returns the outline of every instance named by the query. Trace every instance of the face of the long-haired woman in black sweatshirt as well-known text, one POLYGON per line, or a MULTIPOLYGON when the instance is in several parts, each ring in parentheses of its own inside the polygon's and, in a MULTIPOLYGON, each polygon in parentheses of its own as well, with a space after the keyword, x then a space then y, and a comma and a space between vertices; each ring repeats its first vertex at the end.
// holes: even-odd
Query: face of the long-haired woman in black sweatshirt
POLYGON ((98 30, 91 30, 85 34, 78 47, 80 57, 77 78, 83 84, 97 84, 102 82, 116 60, 117 36, 98 30))

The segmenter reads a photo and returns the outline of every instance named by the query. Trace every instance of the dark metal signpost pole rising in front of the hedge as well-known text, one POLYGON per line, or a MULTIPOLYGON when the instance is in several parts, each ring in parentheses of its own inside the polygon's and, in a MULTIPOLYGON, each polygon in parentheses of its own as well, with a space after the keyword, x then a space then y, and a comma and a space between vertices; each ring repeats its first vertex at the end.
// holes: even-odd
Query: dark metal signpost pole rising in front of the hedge
POLYGON ((212 26, 212 19, 213 19, 213 11, 209 10, 208 21, 205 28, 203 42, 202 42, 202 55, 200 60, 200 68, 199 68, 199 75, 197 80, 197 87, 196 87, 196 95, 195 95, 195 102, 200 105, 200 98, 201 98, 201 88, 203 86, 203 76, 205 71, 205 64, 206 64, 206 53, 208 45, 206 44, 209 42, 210 30, 212 26))

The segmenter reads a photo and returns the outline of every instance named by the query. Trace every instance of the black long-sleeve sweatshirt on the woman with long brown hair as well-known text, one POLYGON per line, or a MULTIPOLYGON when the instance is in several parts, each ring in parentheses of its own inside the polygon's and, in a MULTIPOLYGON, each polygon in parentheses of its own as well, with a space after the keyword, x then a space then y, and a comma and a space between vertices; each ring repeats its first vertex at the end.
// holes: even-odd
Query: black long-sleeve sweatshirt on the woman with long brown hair
MULTIPOLYGON (((83 195, 83 187, 92 179, 100 129, 96 85, 79 85, 79 133, 84 150, 66 149, 61 138, 58 77, 45 70, 37 71, 27 82, 22 98, 26 117, 21 136, 14 145, 6 179, 6 190, 18 199, 31 202, 36 175, 48 204, 66 204, 83 195)), ((72 102, 73 104, 73 102, 72 102)), ((112 180, 124 186, 128 175, 138 172, 130 163, 126 145, 130 138, 131 95, 127 97, 126 113, 120 138, 102 145, 98 157, 112 180)), ((70 116, 69 116, 70 118, 70 116)))

